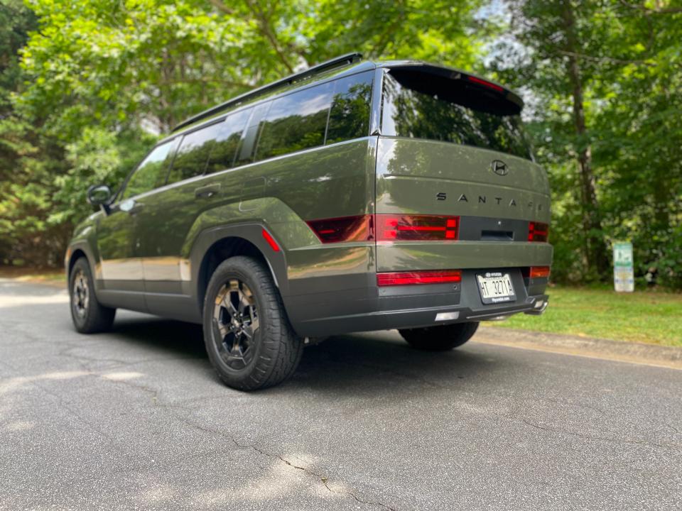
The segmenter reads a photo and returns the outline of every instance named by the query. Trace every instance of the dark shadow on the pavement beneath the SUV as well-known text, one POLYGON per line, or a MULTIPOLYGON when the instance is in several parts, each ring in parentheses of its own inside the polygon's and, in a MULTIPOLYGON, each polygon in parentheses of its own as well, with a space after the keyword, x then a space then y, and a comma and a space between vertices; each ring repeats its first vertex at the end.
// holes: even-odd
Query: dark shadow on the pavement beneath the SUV
MULTIPOLYGON (((114 323, 116 341, 158 350, 178 358, 205 360, 202 328, 197 324, 156 318, 123 319, 114 323)), ((364 332, 332 336, 303 351, 298 370, 283 385, 261 391, 267 394, 291 392, 374 392, 388 395, 402 390, 443 390, 472 378, 489 378, 506 366, 504 357, 463 346, 445 352, 410 348, 396 331, 364 332)), ((203 373, 205 375, 205 373, 203 373)), ((215 379, 216 385, 222 385, 215 379)))

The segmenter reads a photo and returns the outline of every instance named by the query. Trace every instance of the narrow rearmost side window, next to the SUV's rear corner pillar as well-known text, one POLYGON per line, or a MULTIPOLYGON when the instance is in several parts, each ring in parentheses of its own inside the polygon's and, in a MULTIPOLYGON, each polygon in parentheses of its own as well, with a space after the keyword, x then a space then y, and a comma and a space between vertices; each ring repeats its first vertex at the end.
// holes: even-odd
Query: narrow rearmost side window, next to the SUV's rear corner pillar
POLYGON ((329 113, 326 143, 369 135, 373 71, 338 79, 329 113))

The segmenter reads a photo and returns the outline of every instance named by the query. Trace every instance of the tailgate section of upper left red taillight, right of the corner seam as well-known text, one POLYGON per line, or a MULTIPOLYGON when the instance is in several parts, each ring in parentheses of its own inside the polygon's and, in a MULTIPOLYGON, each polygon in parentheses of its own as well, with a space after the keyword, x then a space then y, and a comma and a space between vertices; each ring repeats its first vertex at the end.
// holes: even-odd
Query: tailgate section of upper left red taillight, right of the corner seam
POLYGON ((459 216, 378 214, 377 241, 454 241, 459 227, 459 216))

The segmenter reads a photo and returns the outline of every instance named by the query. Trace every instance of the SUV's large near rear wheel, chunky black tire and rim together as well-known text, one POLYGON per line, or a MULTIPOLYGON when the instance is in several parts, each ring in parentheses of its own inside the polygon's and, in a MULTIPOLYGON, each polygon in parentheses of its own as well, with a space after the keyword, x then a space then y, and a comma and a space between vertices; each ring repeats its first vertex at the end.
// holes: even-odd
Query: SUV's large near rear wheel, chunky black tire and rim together
POLYGON ((289 324, 268 268, 254 258, 239 255, 215 269, 204 298, 203 325, 210 361, 229 387, 277 385, 301 361, 303 339, 289 324))

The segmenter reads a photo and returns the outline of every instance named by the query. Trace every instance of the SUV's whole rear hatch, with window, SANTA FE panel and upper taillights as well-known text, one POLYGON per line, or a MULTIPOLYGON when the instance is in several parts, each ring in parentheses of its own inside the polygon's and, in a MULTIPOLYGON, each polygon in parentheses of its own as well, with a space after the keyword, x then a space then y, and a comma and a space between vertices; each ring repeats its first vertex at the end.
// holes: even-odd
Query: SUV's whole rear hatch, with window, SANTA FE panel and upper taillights
POLYGON ((550 197, 520 112, 518 97, 477 77, 429 65, 386 71, 378 272, 551 262, 551 246, 529 241, 529 228, 546 231, 550 197))

